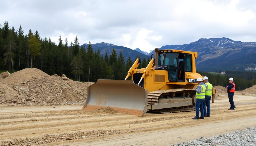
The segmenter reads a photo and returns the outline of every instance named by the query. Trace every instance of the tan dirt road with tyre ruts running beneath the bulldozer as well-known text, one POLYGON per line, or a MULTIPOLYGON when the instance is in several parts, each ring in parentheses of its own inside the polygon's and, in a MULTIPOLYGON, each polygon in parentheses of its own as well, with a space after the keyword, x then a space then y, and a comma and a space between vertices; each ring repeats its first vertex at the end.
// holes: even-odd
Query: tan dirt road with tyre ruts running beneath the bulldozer
POLYGON ((0 145, 170 145, 256 126, 256 96, 235 95, 234 111, 220 99, 203 120, 191 119, 195 111, 138 117, 82 105, 1 106, 0 145))

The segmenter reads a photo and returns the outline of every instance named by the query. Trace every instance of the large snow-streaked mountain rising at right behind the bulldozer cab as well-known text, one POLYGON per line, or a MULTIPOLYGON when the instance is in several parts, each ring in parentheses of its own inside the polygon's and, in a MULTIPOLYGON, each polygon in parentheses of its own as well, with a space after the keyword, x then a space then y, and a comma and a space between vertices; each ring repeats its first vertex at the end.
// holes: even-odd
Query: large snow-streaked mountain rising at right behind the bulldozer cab
MULTIPOLYGON (((198 52, 197 69, 242 70, 248 64, 256 64, 256 42, 234 41, 229 38, 201 38, 183 45, 166 45, 161 48, 198 52)), ((154 54, 155 52, 149 53, 154 54)))

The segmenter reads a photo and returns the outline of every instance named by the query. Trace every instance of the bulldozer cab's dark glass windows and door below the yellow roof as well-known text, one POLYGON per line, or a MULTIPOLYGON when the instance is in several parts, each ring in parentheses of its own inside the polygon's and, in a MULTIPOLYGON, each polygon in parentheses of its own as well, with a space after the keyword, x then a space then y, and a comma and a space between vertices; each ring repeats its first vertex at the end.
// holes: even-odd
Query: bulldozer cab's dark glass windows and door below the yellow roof
POLYGON ((159 52, 158 68, 166 68, 169 82, 185 82, 185 72, 192 72, 191 54, 159 52))

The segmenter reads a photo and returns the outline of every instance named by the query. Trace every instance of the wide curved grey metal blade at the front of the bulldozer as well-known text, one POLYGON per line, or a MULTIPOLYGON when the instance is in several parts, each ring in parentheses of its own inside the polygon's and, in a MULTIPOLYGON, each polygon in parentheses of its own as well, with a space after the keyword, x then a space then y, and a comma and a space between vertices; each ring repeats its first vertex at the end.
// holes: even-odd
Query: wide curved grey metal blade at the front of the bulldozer
POLYGON ((147 93, 147 89, 133 80, 98 80, 88 87, 88 97, 82 109, 111 107, 119 113, 143 116, 147 112, 147 93))

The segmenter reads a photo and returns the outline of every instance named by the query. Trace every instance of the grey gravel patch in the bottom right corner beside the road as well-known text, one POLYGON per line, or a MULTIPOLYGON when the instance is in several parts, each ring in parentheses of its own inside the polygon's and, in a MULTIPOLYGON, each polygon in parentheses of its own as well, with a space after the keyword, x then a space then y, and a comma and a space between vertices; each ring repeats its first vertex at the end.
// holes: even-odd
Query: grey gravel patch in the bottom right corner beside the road
POLYGON ((236 145, 256 145, 256 127, 247 127, 246 130, 240 130, 233 133, 221 134, 213 137, 201 137, 196 140, 184 141, 176 143, 173 146, 185 145, 204 145, 204 146, 236 146, 236 145))

